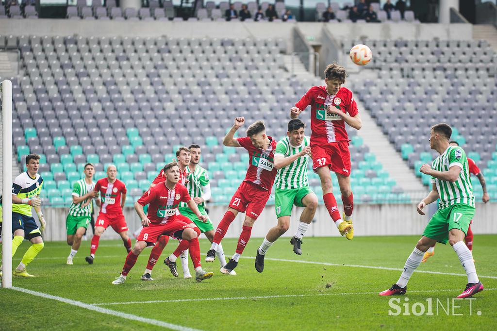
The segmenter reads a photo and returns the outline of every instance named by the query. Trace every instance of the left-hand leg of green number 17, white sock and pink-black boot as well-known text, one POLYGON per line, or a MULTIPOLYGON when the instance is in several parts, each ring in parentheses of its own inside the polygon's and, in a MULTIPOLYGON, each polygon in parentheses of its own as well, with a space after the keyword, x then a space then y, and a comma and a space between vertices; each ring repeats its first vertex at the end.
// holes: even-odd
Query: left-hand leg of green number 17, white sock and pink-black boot
POLYGON ((433 245, 436 241, 434 239, 430 239, 428 237, 421 237, 421 239, 417 242, 416 247, 414 248, 411 255, 406 260, 406 264, 404 265, 404 271, 402 271, 401 277, 392 285, 392 287, 388 290, 380 292, 379 295, 388 296, 395 294, 406 294, 407 291, 407 283, 411 278, 414 270, 421 264, 421 259, 423 258, 423 254, 428 248, 433 245))

